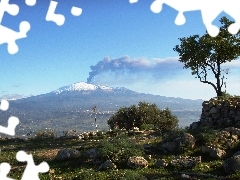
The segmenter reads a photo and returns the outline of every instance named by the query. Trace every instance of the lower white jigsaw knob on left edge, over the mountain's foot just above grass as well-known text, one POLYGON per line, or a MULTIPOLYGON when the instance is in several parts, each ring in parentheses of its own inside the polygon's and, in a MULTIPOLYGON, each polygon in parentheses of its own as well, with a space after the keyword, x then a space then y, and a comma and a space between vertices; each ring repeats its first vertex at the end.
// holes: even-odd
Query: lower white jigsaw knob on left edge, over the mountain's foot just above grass
POLYGON ((8 119, 8 127, 0 126, 0 133, 14 136, 15 135, 15 128, 19 124, 19 119, 17 117, 10 117, 8 119))

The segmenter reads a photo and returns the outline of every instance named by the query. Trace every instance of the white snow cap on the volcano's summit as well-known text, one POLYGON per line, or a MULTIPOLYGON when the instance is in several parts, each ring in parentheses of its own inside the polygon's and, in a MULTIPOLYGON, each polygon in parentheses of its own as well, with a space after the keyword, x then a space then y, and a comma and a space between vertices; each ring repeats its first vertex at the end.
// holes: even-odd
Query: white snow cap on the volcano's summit
POLYGON ((111 91, 112 89, 113 88, 108 86, 100 86, 100 85, 88 84, 86 82, 78 82, 70 86, 61 87, 55 90, 54 92, 56 94, 60 94, 62 92, 73 92, 73 91, 94 91, 94 90, 111 91))

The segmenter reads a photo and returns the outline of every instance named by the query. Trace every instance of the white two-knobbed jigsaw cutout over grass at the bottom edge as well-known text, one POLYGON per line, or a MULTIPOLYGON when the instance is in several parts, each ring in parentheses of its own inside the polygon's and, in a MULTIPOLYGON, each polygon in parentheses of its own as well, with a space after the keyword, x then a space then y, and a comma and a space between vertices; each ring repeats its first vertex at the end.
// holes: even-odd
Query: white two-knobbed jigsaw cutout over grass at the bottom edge
POLYGON ((20 162, 27 162, 27 166, 24 170, 21 180, 40 180, 39 173, 46 173, 49 171, 49 165, 46 162, 42 162, 39 165, 35 165, 32 154, 27 154, 24 151, 18 151, 16 159, 20 162))

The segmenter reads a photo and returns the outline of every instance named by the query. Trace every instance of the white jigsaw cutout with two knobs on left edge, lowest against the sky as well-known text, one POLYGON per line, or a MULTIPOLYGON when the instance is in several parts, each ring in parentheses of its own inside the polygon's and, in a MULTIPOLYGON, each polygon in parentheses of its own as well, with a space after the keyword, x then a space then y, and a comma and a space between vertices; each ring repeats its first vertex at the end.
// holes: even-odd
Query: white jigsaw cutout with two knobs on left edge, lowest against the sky
POLYGON ((0 25, 0 44, 8 44, 8 52, 15 54, 18 52, 16 40, 26 38, 27 32, 30 30, 30 24, 22 21, 19 25, 19 32, 13 31, 5 26, 0 25))

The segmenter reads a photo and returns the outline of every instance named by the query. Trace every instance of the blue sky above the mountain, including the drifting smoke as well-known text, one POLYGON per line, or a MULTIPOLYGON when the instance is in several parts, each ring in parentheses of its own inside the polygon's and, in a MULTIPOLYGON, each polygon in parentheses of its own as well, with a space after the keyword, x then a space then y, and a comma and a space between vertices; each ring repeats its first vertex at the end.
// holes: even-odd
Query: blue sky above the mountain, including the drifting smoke
MULTIPOLYGON (((58 26, 45 20, 48 0, 38 0, 33 7, 23 1, 10 2, 18 4, 20 12, 16 17, 5 13, 2 25, 18 31, 19 23, 26 20, 31 29, 27 38, 17 41, 18 53, 10 55, 6 44, 0 45, 0 97, 38 95, 87 80, 170 97, 216 96, 210 85, 183 69, 173 51, 180 43, 178 38, 205 33, 200 11, 185 13, 186 23, 177 26, 177 11, 164 5, 161 13, 154 14, 152 0, 134 4, 128 0, 59 0, 56 13, 65 16, 65 23, 58 26), (82 14, 72 16, 72 6, 82 8, 82 14)), ((239 95, 239 60, 226 65, 230 66, 227 91, 239 95)))

